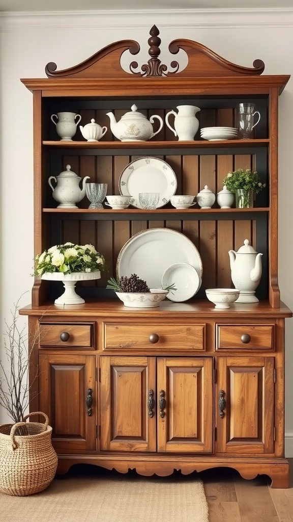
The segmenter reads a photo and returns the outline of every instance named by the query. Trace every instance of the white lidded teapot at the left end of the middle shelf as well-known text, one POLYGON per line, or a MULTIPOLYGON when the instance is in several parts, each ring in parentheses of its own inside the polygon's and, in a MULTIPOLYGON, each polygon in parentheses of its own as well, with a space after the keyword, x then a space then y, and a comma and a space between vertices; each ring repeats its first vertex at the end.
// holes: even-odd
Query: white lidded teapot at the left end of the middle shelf
POLYGON ((55 176, 50 176, 48 184, 52 188, 53 198, 58 201, 59 205, 57 208, 78 208, 76 203, 81 201, 86 195, 86 181, 90 179, 90 176, 85 176, 82 180, 82 189, 79 186, 81 177, 75 172, 70 170, 70 165, 66 165, 66 170, 60 172, 55 176), (52 181, 55 180, 56 186, 52 185, 52 181))

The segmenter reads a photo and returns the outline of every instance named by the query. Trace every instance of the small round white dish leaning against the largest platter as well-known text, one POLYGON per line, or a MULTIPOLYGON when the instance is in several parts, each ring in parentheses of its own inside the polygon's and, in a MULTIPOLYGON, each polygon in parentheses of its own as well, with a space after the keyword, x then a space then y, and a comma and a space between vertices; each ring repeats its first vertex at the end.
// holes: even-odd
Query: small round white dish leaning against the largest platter
POLYGON ((162 287, 174 284, 176 290, 169 290, 167 299, 177 303, 187 301, 195 295, 201 286, 201 277, 197 270, 187 263, 175 263, 169 266, 162 276, 162 287))

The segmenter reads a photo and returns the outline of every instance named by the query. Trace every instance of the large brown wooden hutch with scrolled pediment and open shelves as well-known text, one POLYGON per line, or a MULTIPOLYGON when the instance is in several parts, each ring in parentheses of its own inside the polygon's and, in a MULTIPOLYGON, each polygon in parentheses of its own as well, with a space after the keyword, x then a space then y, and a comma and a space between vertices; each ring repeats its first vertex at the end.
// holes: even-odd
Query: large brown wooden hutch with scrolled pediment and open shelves
POLYGON ((284 338, 292 314, 278 288, 278 97, 289 76, 262 74, 261 60, 251 68, 230 63, 186 39, 169 44, 165 65, 158 34, 154 26, 142 66, 133 58, 139 44, 124 40, 65 70, 49 63, 47 78, 21 80, 33 94, 34 252, 91 243, 108 265, 101 279, 78 285, 81 305, 55 305, 62 283, 35 278, 31 305, 20 310, 32 349, 30 409, 50 418, 59 473, 77 463, 160 476, 225 466, 246 479, 267 474, 272 487, 286 488, 284 338), (182 53, 188 64, 180 70, 182 53), (128 71, 121 55, 129 56, 128 71), (241 102, 261 113, 249 139, 200 138, 202 127, 235 127, 241 102), (163 120, 177 105, 196 105, 199 131, 193 141, 178 141, 164 125, 148 141, 117 140, 106 113, 118 121, 133 103, 163 120), (82 125, 95 118, 108 130, 99 142, 86 141, 79 128, 72 141, 60 140, 51 115, 61 111, 80 114, 82 125), (121 172, 144 156, 172 167, 176 194, 197 195, 204 185, 217 193, 237 168, 257 170, 266 187, 249 209, 167 203, 92 210, 86 197, 77 209, 56 208, 48 178, 67 164, 119 194, 121 172), (151 228, 175 230, 196 245, 202 284, 186 302, 131 309, 106 289, 107 279, 116 275, 125 243, 151 228), (216 310, 205 289, 233 287, 228 251, 245 239, 263 254, 259 302, 216 310))

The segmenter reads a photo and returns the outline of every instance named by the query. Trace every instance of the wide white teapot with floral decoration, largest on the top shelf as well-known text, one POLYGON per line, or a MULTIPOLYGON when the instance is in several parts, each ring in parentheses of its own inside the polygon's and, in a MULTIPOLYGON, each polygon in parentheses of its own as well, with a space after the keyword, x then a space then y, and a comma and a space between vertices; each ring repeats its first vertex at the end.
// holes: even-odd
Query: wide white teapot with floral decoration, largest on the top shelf
POLYGON ((120 141, 146 141, 153 138, 163 127, 161 116, 153 115, 148 120, 144 114, 137 112, 136 105, 132 105, 131 112, 121 116, 119 122, 116 122, 113 112, 107 112, 106 114, 110 118, 112 133, 120 141), (155 118, 160 122, 160 127, 156 132, 153 131, 152 126, 155 118))

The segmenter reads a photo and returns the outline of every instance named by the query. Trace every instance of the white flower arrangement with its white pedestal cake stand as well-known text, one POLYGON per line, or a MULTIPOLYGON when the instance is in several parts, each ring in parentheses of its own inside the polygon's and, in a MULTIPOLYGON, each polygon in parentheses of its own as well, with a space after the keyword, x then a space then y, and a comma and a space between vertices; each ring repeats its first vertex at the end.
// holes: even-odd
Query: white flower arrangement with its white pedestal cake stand
POLYGON ((55 304, 84 303, 75 291, 77 281, 100 279, 106 269, 105 258, 93 245, 77 245, 67 242, 51 246, 34 258, 34 275, 51 281, 62 281, 64 293, 55 304))

